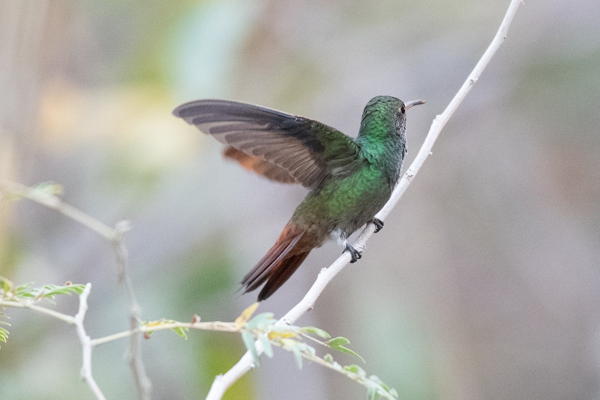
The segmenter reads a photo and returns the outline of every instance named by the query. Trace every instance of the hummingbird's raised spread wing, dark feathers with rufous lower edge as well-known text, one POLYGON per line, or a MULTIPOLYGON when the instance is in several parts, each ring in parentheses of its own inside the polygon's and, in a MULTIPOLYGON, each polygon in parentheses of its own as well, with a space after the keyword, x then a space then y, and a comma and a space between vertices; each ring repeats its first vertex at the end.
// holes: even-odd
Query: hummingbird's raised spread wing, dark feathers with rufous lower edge
POLYGON ((226 157, 275 181, 315 188, 329 174, 347 175, 359 161, 349 136, 313 119, 229 100, 182 104, 173 115, 233 149, 226 157))

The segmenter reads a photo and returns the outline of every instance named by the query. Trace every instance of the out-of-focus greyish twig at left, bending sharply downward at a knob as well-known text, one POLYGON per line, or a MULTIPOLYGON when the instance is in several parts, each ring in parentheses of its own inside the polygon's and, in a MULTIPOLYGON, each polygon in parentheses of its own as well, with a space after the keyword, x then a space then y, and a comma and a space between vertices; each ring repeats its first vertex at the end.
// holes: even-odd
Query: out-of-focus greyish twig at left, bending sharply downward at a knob
MULTIPOLYGON (((118 280, 124 285, 125 293, 128 297, 130 308, 130 329, 135 329, 138 324, 140 306, 139 303, 137 303, 136 296, 133 291, 133 284, 131 283, 131 279, 128 274, 127 248, 125 248, 125 245, 122 242, 123 233, 129 229, 129 223, 127 221, 120 221, 115 225, 114 228, 111 228, 103 222, 98 221, 98 219, 86 214, 82 210, 76 209, 70 204, 64 203, 60 197, 55 196, 49 191, 40 190, 40 188, 30 188, 25 185, 2 179, 0 180, 0 189, 7 193, 18 197, 24 197, 25 199, 35 201, 36 203, 56 210, 59 213, 62 213, 62 215, 68 216, 74 221, 79 222, 83 226, 100 234, 100 236, 112 243, 116 254, 118 280)), ((136 382, 138 398, 140 400, 149 400, 152 384, 150 378, 148 378, 148 375, 146 374, 142 356, 140 355, 139 351, 139 341, 135 335, 131 335, 129 354, 131 371, 133 372, 133 379, 136 382)))

